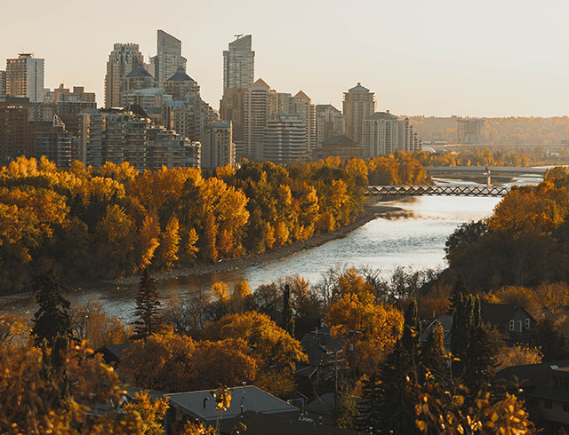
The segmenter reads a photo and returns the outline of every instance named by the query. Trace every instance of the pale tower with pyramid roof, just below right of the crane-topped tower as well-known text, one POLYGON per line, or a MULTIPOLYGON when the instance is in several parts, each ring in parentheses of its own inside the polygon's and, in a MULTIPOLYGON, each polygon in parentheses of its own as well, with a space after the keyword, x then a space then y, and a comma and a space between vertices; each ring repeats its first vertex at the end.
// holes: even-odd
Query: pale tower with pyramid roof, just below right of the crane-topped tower
POLYGON ((237 161, 244 157, 262 160, 265 127, 276 112, 276 92, 259 79, 247 88, 244 108, 244 143, 236 144, 237 161))

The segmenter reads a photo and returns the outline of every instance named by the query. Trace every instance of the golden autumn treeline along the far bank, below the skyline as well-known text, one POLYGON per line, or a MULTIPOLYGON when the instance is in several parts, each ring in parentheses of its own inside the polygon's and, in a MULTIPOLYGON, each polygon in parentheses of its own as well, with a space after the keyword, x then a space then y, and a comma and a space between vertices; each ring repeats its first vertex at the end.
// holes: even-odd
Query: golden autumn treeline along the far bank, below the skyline
POLYGON ((0 291, 46 268, 64 281, 259 254, 347 225, 368 183, 425 184, 409 154, 276 166, 244 162, 139 173, 124 162, 58 169, 20 158, 0 170, 0 291))

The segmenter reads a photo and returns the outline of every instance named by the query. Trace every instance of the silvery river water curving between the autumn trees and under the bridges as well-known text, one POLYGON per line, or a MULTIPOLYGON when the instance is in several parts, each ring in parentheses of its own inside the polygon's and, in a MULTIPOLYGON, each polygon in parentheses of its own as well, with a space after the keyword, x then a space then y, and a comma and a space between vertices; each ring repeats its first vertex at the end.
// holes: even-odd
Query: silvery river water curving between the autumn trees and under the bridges
MULTIPOLYGON (((437 179, 437 184, 450 180, 437 179)), ((511 184, 536 184, 541 178, 520 176, 511 184)), ((453 184, 473 184, 452 180, 453 184)), ((328 241, 264 265, 241 270, 210 273, 168 281, 158 281, 161 297, 183 298, 196 289, 209 289, 213 282, 225 281, 229 288, 236 281, 246 279, 252 289, 280 277, 298 273, 310 282, 317 282, 323 273, 335 265, 368 265, 389 274, 397 266, 414 270, 445 266, 445 241, 462 223, 485 218, 492 214, 500 198, 430 197, 419 196, 403 201, 381 202, 381 205, 402 210, 390 211, 360 226, 342 239, 328 241)), ((129 320, 134 311, 136 286, 101 285, 96 289, 73 289, 67 294, 72 305, 99 301, 104 311, 121 320, 129 320)), ((2 297, 0 312, 36 311, 33 297, 2 297)))

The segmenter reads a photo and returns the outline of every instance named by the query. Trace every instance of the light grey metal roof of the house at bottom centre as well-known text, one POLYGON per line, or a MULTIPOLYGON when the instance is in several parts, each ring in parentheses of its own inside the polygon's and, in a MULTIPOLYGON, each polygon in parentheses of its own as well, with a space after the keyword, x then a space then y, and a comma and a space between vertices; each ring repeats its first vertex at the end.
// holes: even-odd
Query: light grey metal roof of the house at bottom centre
MULTIPOLYGON (((169 403, 180 408, 184 413, 204 421, 216 420, 219 412, 210 390, 201 392, 178 392, 166 394, 169 403)), ((284 400, 262 391, 254 385, 239 386, 232 389, 231 406, 224 411, 221 418, 231 418, 245 411, 255 411, 262 414, 298 413, 300 409, 286 403, 284 400), (241 408, 243 405, 243 410, 241 408)))

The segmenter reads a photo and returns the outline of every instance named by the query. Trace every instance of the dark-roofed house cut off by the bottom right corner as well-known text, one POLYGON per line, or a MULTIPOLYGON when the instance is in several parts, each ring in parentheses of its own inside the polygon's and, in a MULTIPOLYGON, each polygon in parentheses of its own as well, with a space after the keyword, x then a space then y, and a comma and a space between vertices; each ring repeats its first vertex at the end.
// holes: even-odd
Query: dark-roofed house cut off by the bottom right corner
POLYGON ((496 374, 525 399, 532 420, 544 435, 569 431, 569 360, 504 368, 496 374))

